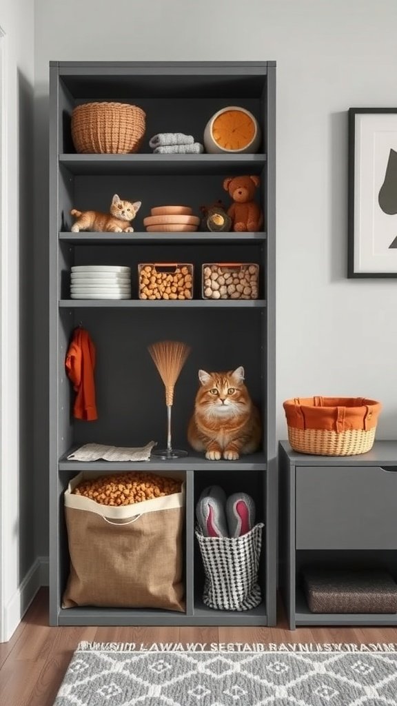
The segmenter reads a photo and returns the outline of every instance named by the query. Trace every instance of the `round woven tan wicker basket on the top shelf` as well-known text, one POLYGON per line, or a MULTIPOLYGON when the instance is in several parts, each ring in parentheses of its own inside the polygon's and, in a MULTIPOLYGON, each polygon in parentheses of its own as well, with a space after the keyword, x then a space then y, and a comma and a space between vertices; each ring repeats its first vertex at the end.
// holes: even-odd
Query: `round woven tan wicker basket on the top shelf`
POLYGON ((146 114, 128 103, 83 103, 73 109, 71 136, 76 152, 137 152, 145 134, 146 114))

